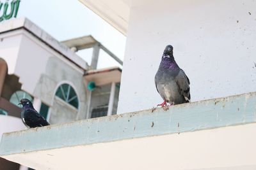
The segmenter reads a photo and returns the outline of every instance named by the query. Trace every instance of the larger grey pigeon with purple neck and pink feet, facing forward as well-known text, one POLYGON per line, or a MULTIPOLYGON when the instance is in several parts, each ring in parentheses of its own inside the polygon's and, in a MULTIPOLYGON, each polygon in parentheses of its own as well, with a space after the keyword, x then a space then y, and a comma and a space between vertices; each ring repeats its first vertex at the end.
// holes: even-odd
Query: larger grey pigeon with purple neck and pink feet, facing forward
POLYGON ((155 76, 157 92, 166 103, 181 104, 188 103, 190 100, 189 79, 182 69, 175 62, 173 57, 173 46, 168 45, 164 49, 162 60, 155 76))

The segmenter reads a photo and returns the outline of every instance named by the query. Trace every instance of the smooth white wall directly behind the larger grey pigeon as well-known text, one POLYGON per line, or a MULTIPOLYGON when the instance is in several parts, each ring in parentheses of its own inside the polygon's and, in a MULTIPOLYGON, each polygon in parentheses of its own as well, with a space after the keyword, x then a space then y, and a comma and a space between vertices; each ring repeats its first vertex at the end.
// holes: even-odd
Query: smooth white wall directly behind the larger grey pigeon
POLYGON ((191 81, 191 101, 256 90, 256 1, 148 1, 131 8, 118 113, 161 103, 164 47, 191 81))

